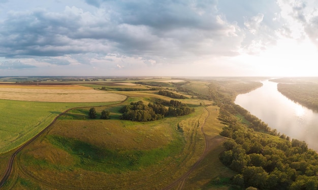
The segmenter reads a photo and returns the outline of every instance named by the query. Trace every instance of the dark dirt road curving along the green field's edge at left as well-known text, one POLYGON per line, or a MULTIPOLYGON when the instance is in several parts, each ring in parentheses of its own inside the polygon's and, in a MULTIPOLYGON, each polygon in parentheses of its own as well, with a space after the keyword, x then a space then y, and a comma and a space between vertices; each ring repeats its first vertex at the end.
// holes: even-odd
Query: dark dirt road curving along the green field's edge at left
MULTIPOLYGON (((126 98, 122 101, 126 101, 129 97, 126 96, 126 98)), ((120 102, 120 103, 122 103, 120 102)), ((116 104, 120 104, 120 103, 115 103, 115 104, 112 104, 112 105, 116 105, 116 104)), ((101 107, 101 106, 104 106, 104 105, 100 105, 100 106, 93 106, 93 107, 101 107)), ((5 182, 8 180, 10 174, 11 174, 11 171, 12 171, 12 165, 13 165, 13 162, 14 162, 14 159, 15 157, 17 156, 17 154, 23 149, 25 148, 28 144, 30 144, 31 142, 33 142, 35 139, 37 139, 39 136, 41 136, 44 132, 46 132, 55 122, 58 118, 60 118, 61 116, 65 115, 65 113, 67 113, 68 111, 72 110, 72 109, 79 109, 79 108, 86 108, 86 107, 91 107, 91 106, 85 106, 85 107, 73 107, 73 108, 69 108, 61 113, 59 113, 58 116, 56 116, 53 121, 47 126, 45 127, 40 133, 38 133, 36 136, 34 136, 33 138, 31 138, 30 140, 28 140, 27 142, 25 142, 24 144, 22 144, 21 146, 19 146, 15 151, 14 153, 11 155, 10 159, 9 159, 9 162, 8 162, 8 165, 7 165, 7 168, 6 168, 6 172, 5 172, 5 175, 3 176, 3 178, 1 179, 0 181, 0 188, 5 184, 5 182)))

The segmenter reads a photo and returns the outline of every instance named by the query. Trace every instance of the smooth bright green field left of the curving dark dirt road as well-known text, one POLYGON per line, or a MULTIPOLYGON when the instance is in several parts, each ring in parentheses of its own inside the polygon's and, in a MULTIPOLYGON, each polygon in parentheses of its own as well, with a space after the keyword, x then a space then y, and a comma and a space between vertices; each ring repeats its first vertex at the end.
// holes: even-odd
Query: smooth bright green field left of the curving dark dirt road
MULTIPOLYGON (((113 103, 113 102, 112 102, 113 103)), ((112 104, 99 103, 53 103, 0 99, 0 153, 18 147, 48 126, 59 113, 82 106, 112 104)))

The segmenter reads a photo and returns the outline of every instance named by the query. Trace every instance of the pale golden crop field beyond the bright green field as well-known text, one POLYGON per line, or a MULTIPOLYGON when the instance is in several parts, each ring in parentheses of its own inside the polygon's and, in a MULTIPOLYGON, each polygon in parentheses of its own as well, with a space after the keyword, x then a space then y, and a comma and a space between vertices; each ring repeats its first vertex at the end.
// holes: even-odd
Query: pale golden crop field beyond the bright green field
POLYGON ((40 102, 114 102, 126 97, 82 86, 1 85, 0 99, 40 102))

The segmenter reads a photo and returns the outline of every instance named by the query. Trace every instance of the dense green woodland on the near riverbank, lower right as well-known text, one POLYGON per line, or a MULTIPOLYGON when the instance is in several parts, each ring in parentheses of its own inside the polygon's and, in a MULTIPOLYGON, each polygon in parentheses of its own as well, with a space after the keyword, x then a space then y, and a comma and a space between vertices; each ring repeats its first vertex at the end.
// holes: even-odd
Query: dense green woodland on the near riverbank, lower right
POLYGON ((227 127, 220 161, 237 171, 233 183, 258 189, 317 189, 318 155, 304 141, 247 128, 227 110, 220 111, 227 127))

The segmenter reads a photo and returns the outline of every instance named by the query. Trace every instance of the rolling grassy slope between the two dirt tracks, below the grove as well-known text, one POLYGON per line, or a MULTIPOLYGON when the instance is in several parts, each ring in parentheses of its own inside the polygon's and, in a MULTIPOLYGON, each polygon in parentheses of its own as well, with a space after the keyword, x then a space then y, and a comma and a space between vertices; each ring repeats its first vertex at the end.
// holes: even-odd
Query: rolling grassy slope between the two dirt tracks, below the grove
MULTIPOLYGON (((150 101, 146 97, 127 101, 135 100, 150 101)), ((62 116, 46 134, 21 151, 18 170, 6 187, 161 189, 189 170, 203 154, 205 140, 198 127, 208 116, 203 106, 197 106, 196 112, 188 116, 154 122, 114 119, 119 107, 97 107, 111 110, 111 120, 87 119, 88 108, 62 116), (177 130, 178 125, 181 130, 177 130)), ((216 121, 216 116, 211 117, 216 121)), ((220 125, 216 127, 216 131, 221 129, 220 125)))

